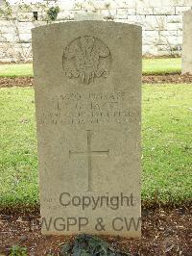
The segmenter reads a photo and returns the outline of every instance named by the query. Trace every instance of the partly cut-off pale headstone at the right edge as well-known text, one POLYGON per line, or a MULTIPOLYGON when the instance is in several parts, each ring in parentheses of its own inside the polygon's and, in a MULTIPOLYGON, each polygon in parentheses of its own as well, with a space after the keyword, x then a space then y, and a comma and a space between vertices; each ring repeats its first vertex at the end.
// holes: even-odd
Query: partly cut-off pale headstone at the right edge
POLYGON ((192 11, 184 13, 182 34, 182 73, 192 73, 192 11))

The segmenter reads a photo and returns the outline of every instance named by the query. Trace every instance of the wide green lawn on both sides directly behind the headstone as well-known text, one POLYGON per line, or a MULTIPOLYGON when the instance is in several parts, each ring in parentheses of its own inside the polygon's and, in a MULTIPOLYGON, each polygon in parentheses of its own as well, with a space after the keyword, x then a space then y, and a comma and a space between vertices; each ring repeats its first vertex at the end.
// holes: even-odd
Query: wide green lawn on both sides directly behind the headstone
MULTIPOLYGON (((192 86, 143 86, 145 202, 192 197, 192 86)), ((38 202, 34 90, 0 90, 0 206, 38 202)))

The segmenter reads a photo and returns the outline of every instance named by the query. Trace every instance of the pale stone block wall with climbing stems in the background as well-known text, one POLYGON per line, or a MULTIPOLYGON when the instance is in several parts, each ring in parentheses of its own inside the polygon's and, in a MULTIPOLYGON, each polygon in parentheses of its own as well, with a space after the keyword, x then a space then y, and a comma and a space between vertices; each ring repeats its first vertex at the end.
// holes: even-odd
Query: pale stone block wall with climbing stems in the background
MULTIPOLYGON (((143 55, 175 56, 181 51, 182 13, 192 9, 192 0, 59 0, 58 5, 56 22, 94 13, 107 21, 142 25, 143 55)), ((31 61, 31 29, 47 24, 46 12, 36 6, 18 12, 14 6, 13 15, 0 18, 0 61, 31 61)))

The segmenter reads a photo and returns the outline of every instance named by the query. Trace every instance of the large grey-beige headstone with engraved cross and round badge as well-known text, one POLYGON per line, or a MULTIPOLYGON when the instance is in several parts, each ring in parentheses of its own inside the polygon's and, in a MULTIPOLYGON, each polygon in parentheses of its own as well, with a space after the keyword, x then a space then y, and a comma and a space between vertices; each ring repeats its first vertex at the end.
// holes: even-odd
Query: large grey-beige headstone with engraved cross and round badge
POLYGON ((33 51, 43 234, 139 237, 141 28, 39 27, 33 51))

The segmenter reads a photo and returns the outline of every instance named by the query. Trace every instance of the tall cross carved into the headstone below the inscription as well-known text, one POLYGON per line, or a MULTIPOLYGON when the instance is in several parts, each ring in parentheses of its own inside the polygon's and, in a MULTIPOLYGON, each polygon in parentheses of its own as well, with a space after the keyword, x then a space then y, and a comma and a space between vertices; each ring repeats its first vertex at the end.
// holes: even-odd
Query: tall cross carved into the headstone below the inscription
POLYGON ((69 157, 72 155, 85 155, 87 157, 88 162, 88 192, 92 191, 92 156, 108 156, 109 155, 109 149, 108 150, 102 150, 102 151, 96 151, 91 149, 91 131, 86 130, 86 136, 87 136, 87 147, 85 151, 69 151, 69 157))

